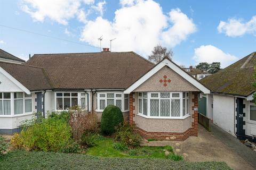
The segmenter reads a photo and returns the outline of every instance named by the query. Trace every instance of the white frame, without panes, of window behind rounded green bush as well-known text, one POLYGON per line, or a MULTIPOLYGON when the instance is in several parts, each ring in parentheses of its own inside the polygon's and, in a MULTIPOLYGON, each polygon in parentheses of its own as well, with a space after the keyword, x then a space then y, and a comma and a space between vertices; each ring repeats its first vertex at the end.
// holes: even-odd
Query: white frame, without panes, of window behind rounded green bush
POLYGON ((122 112, 127 112, 129 111, 129 95, 127 97, 125 97, 125 94, 123 94, 123 92, 117 92, 117 91, 103 91, 103 92, 97 92, 96 93, 96 99, 97 99, 97 109, 96 112, 103 112, 104 109, 100 109, 100 100, 105 100, 105 108, 107 107, 107 99, 114 99, 114 105, 116 106, 116 100, 121 100, 122 104, 121 104, 121 111, 122 112), (104 94, 105 97, 100 97, 101 94, 104 94), (114 98, 108 98, 107 94, 114 94, 114 98), (121 97, 116 97, 116 95, 121 95, 121 97), (128 109, 124 109, 124 101, 125 99, 128 99, 128 109))

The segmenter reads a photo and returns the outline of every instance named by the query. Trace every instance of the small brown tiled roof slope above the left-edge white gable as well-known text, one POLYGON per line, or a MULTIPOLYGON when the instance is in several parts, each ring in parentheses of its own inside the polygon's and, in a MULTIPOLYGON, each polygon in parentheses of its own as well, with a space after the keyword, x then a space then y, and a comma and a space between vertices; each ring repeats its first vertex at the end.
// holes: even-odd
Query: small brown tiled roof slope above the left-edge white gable
POLYGON ((0 67, 29 90, 51 89, 43 68, 4 62, 0 62, 0 67))

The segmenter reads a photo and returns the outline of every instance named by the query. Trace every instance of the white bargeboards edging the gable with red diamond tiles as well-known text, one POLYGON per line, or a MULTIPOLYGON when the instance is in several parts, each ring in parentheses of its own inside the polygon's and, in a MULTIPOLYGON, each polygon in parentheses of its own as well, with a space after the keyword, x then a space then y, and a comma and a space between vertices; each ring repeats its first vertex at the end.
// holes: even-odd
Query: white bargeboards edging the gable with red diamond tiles
POLYGON ((164 66, 170 67, 174 72, 179 74, 182 78, 186 79, 188 82, 193 84, 197 89, 204 92, 204 94, 210 94, 210 90, 203 86, 203 84, 199 83, 197 80, 195 80, 193 77, 191 77, 188 73, 180 69, 177 65, 172 63, 171 61, 164 59, 161 63, 158 63, 152 70, 150 70, 148 73, 143 75, 142 78, 140 78, 138 81, 133 83, 129 88, 124 90, 125 94, 130 94, 132 91, 137 89, 142 83, 144 83, 146 80, 151 78, 155 73, 157 73, 159 70, 161 70, 164 66))

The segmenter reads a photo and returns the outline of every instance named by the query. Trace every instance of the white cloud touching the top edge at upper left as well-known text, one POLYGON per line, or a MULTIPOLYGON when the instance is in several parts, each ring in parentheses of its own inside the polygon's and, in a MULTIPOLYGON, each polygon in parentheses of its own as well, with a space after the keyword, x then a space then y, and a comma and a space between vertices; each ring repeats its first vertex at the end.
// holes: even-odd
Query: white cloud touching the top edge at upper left
MULTIPOLYGON (((87 5, 89 9, 94 4, 94 0, 22 0, 22 11, 31 15, 34 21, 43 22, 46 18, 60 24, 67 25, 68 20, 77 16, 81 22, 86 22, 87 13, 82 5, 87 5)), ((105 2, 98 3, 95 9, 103 13, 105 2)))

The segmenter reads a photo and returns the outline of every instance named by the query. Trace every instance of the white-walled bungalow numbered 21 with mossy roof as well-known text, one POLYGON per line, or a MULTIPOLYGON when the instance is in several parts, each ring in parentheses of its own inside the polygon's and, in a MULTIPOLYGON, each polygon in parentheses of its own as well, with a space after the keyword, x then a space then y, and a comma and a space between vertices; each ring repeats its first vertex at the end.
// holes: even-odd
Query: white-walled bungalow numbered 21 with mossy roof
POLYGON ((256 137, 256 88, 254 67, 256 52, 201 80, 211 90, 202 95, 207 100, 207 117, 239 139, 256 137))

